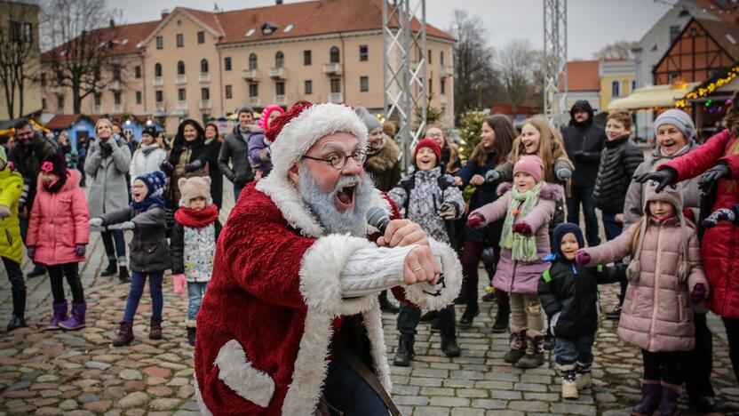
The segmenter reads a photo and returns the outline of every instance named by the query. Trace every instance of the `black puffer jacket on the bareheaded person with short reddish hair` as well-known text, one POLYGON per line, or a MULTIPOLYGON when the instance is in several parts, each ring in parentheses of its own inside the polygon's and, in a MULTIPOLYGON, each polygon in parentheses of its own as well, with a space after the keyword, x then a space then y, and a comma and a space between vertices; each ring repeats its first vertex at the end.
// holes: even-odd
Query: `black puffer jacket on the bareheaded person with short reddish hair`
POLYGON ((642 162, 644 154, 629 140, 628 135, 606 141, 592 192, 595 206, 602 212, 624 212, 626 191, 632 183, 634 171, 642 162))

